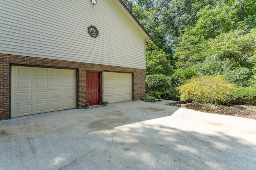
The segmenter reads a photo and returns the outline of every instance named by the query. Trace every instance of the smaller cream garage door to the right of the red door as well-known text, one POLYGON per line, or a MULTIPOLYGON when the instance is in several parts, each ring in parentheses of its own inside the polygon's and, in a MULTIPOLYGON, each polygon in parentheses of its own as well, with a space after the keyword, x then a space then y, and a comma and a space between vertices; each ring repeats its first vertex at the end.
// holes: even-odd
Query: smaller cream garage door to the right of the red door
POLYGON ((132 100, 132 74, 104 72, 104 101, 116 103, 132 100))

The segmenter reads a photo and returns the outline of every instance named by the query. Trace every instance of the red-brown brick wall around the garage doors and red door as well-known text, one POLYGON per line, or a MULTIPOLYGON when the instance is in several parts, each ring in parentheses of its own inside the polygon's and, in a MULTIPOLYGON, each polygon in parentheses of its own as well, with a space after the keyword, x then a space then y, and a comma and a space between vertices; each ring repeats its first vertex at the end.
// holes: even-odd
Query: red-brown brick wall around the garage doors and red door
MULTIPOLYGON (((78 69, 78 108, 86 103, 86 71, 115 71, 133 73, 132 100, 139 100, 145 95, 145 70, 128 67, 117 67, 20 55, 0 54, 0 120, 9 119, 10 110, 10 65, 44 66, 78 69)), ((102 74, 103 89, 103 74, 102 74)), ((102 91, 103 101, 103 91, 102 91)))

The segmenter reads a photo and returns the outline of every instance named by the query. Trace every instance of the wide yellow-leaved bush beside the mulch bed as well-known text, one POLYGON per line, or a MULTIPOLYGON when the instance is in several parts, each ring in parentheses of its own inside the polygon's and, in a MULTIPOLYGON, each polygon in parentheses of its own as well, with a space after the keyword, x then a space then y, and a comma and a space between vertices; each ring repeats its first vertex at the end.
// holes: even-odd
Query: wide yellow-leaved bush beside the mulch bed
POLYGON ((196 77, 180 86, 180 101, 220 103, 233 88, 234 85, 221 76, 196 77))

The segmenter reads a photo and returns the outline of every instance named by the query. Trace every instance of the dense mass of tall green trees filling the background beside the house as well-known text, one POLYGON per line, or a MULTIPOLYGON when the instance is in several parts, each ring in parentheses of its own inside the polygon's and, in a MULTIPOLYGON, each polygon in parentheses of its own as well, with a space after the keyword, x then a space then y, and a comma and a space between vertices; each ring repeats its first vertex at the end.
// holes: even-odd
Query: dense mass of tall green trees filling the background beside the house
MULTIPOLYGON (((256 0, 123 1, 154 39, 146 45, 146 75, 170 76, 172 87, 198 75, 256 86, 256 0)), ((172 98, 169 87, 152 89, 172 98)))

